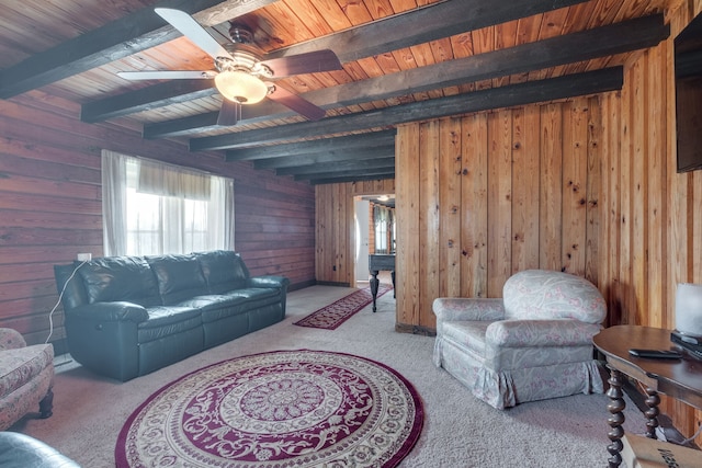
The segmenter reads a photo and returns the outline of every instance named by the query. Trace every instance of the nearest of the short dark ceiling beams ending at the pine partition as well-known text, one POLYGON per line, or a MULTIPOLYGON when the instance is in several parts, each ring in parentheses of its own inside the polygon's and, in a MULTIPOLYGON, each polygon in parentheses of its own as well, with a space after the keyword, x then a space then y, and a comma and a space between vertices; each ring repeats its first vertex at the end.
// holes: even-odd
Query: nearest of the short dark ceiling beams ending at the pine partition
MULTIPOLYGON (((397 132, 383 130, 370 134, 350 135, 336 138, 320 138, 312 141, 297 141, 271 147, 242 148, 227 151, 227 161, 248 161, 257 159, 284 159, 288 156, 307 156, 310 153, 355 152, 359 148, 394 147, 397 132)), ((257 162, 258 163, 258 162, 257 162)), ((270 168, 273 168, 271 165, 270 168)))

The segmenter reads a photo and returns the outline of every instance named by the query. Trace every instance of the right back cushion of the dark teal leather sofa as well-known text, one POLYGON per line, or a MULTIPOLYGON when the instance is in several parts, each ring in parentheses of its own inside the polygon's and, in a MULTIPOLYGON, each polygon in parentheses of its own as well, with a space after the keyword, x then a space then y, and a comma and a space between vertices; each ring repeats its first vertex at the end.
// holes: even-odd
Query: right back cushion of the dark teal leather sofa
POLYGON ((249 271, 241 256, 230 250, 196 253, 211 294, 247 287, 249 271))

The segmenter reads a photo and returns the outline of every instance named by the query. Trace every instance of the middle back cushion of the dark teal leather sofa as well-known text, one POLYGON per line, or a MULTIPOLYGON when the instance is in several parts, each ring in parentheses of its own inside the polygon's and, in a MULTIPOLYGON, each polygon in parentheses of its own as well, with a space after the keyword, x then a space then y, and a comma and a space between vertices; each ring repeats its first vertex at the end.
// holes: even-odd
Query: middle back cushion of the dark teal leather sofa
POLYGON ((155 255, 147 256, 146 261, 154 270, 163 305, 207 294, 207 284, 195 255, 155 255))

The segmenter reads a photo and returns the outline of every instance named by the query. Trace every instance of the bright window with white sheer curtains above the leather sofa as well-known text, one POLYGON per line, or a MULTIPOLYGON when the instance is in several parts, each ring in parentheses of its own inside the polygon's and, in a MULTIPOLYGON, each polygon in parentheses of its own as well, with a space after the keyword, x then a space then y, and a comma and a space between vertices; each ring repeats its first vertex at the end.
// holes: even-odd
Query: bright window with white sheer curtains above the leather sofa
POLYGON ((112 151, 102 155, 105 255, 234 250, 234 183, 112 151))

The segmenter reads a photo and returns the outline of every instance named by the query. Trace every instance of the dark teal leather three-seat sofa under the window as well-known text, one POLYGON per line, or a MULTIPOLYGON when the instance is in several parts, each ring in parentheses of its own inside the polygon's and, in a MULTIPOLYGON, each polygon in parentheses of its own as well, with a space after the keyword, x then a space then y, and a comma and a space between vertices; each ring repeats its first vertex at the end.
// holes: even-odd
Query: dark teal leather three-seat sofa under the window
POLYGON ((251 277, 224 250, 107 256, 54 273, 71 356, 122 381, 283 320, 290 285, 251 277))

